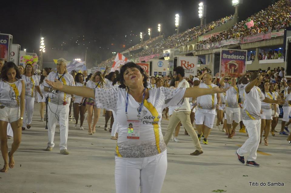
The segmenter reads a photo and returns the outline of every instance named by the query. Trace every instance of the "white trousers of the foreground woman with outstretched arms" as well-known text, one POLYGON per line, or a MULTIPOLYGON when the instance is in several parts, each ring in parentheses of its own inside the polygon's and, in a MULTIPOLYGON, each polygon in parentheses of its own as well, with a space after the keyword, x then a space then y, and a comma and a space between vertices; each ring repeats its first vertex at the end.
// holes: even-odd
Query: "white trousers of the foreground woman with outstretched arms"
POLYGON ((167 150, 150 157, 115 157, 116 193, 160 193, 167 171, 167 150))

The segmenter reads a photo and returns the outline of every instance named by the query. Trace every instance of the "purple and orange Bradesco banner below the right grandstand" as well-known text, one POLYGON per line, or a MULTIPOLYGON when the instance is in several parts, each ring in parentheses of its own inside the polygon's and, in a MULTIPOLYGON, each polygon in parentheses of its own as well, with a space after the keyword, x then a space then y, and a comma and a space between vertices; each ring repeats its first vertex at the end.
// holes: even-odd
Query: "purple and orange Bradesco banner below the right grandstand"
POLYGON ((220 77, 228 72, 230 76, 239 76, 246 73, 247 50, 222 50, 220 63, 220 77))

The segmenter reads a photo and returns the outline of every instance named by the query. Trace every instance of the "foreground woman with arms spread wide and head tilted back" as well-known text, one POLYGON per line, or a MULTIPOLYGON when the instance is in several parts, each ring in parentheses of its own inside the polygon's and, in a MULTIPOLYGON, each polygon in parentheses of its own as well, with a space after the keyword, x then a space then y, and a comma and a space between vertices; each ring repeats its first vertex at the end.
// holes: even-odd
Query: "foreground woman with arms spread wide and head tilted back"
POLYGON ((162 110, 180 106, 185 97, 221 93, 227 89, 147 89, 147 76, 135 63, 120 69, 119 89, 95 90, 48 81, 54 90, 95 97, 96 104, 116 113, 119 122, 115 149, 115 187, 118 193, 160 192, 166 176, 167 151, 161 130, 162 110), (129 124, 133 128, 129 130, 129 124))

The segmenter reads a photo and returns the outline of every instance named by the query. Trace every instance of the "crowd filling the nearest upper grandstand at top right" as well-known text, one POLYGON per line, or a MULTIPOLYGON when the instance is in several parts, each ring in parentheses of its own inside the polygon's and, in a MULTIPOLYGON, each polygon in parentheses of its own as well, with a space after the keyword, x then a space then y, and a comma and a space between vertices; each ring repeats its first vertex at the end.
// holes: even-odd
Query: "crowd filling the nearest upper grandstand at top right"
POLYGON ((237 23, 232 28, 220 32, 209 39, 198 42, 198 44, 206 44, 219 42, 226 39, 235 39, 240 37, 252 36, 258 33, 266 33, 273 30, 284 29, 291 25, 291 3, 289 0, 279 0, 274 5, 268 6, 265 10, 261 10, 248 19, 237 23), (245 23, 253 20, 254 26, 246 28, 245 23))

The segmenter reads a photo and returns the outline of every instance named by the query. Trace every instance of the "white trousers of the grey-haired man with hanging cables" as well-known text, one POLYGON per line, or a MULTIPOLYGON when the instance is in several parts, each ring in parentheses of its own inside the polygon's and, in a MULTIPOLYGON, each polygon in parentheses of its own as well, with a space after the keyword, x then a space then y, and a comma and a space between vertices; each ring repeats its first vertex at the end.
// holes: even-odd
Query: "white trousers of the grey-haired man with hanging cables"
POLYGON ((60 150, 67 149, 68 132, 69 132, 69 103, 66 105, 56 105, 48 103, 48 146, 54 147, 55 126, 59 119, 60 124, 60 150))

